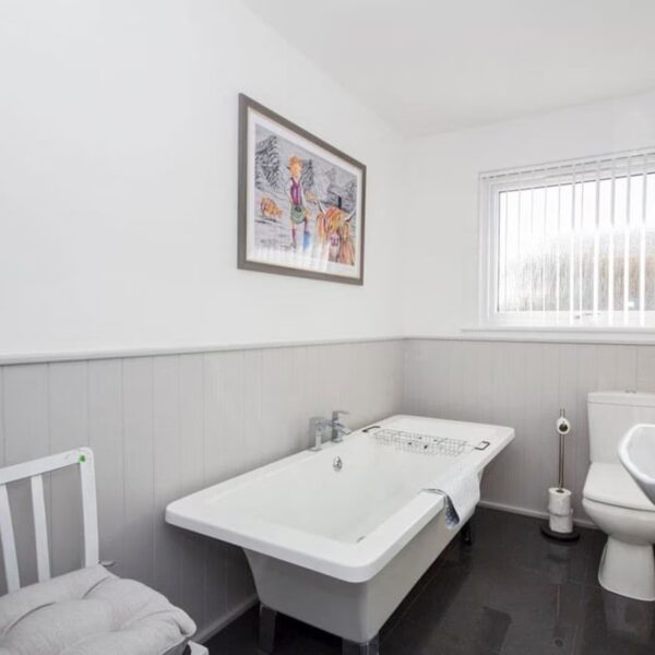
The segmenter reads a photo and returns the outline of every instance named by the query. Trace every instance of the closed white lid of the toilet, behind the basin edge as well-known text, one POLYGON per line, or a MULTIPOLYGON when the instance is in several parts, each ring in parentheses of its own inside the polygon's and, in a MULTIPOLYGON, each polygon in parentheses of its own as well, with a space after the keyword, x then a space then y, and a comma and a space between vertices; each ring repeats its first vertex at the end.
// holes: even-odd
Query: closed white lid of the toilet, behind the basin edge
POLYGON ((620 464, 594 462, 587 473, 583 496, 618 508, 655 512, 655 504, 620 464))

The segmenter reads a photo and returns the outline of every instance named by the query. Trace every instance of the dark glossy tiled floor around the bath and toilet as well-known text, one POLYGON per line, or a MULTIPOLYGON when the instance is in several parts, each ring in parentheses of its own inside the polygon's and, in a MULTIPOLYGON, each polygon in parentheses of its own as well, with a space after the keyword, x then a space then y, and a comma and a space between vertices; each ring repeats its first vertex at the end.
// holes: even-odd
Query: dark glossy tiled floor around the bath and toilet
MULTIPOLYGON (((546 540, 539 521, 479 509, 382 629, 382 655, 653 655, 655 603, 602 590, 605 536, 546 540)), ((257 655, 257 611, 216 635, 212 655, 257 655)), ((288 618, 278 655, 338 655, 341 642, 288 618)))

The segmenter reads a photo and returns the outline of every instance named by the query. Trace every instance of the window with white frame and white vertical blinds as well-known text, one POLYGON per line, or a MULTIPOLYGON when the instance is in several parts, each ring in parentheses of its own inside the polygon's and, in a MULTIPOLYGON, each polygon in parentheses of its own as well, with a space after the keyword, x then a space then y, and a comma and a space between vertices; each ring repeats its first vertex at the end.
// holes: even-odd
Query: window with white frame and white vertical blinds
POLYGON ((485 174, 483 323, 655 327, 655 150, 485 174))

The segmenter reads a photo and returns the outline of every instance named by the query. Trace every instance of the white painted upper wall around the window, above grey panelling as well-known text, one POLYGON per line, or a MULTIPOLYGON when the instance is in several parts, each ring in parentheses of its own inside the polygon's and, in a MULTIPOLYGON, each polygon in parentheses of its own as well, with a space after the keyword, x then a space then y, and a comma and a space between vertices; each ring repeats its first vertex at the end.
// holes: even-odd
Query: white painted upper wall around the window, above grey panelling
POLYGON ((655 92, 410 142, 405 333, 476 322, 480 171, 652 146, 654 116, 655 92))

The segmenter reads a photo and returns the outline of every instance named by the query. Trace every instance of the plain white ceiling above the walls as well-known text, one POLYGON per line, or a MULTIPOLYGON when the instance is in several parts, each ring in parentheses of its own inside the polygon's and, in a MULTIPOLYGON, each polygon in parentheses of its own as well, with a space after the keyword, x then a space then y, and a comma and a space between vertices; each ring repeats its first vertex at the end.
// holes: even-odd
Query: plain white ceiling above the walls
POLYGON ((241 1, 407 135, 655 87, 655 0, 241 1))

